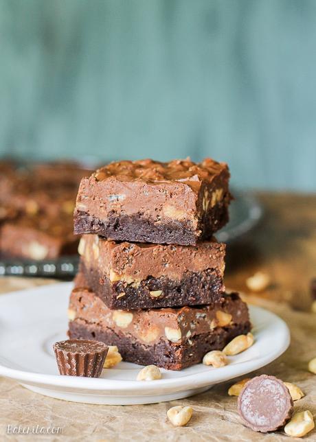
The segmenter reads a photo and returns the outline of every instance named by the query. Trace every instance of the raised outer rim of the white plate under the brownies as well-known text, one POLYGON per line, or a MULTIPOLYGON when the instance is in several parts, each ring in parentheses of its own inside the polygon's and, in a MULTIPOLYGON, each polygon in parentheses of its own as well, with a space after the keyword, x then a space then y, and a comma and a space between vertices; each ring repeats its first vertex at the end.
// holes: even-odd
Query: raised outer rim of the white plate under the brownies
MULTIPOLYGON (((31 292, 31 294, 33 294, 34 292, 42 291, 43 288, 45 291, 50 291, 54 290, 56 286, 58 286, 58 288, 65 286, 65 288, 67 287, 70 290, 72 284, 73 283, 71 282, 55 283, 47 286, 39 286, 29 288, 27 290, 19 290, 16 292, 9 292, 7 294, 1 294, 0 303, 3 302, 1 300, 8 296, 21 296, 22 294, 22 296, 27 296, 27 292, 31 292)), ((43 296, 45 296, 45 294, 43 294, 43 296)), ((86 391, 88 392, 87 394, 94 393, 98 395, 122 395, 122 393, 124 393, 124 396, 135 394, 139 395, 141 393, 142 395, 153 395, 153 393, 161 394, 162 389, 164 393, 168 393, 168 391, 174 391, 174 389, 181 391, 187 390, 188 388, 203 388, 207 385, 211 386, 212 384, 225 382, 234 377, 245 375, 246 373, 260 369, 281 356, 282 353, 284 353, 284 351, 286 351, 286 349, 289 347, 291 340, 289 327, 282 318, 269 310, 254 305, 249 305, 249 310, 250 312, 251 310, 254 310, 258 314, 260 314, 260 312, 264 312, 264 315, 267 318, 266 322, 273 321, 271 328, 277 327, 280 334, 280 340, 278 339, 274 341, 277 342, 278 346, 276 348, 272 347, 268 354, 264 353, 263 356, 255 358, 254 360, 247 360, 244 362, 238 362, 236 364, 228 364, 220 369, 213 369, 210 367, 210 370, 205 370, 202 373, 190 373, 181 377, 139 382, 137 380, 115 380, 106 378, 51 375, 12 369, 10 367, 5 367, 5 365, 1 363, 0 354, 0 375, 16 380, 20 384, 30 384, 48 389, 55 388, 60 390, 63 388, 65 391, 75 391, 76 393, 86 391)), ((256 323, 254 323, 254 327, 256 327, 256 323)), ((265 330, 265 332, 267 332, 267 330, 265 330)))

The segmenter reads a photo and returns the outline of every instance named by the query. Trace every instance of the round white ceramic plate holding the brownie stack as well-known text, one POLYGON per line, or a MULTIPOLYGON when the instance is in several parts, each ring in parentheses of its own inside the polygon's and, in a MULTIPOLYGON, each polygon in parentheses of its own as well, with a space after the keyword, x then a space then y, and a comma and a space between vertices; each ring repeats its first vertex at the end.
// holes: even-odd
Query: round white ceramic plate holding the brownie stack
POLYGON ((150 404, 206 391, 214 384, 259 369, 289 346, 282 319, 250 307, 256 343, 229 364, 213 369, 203 364, 183 371, 163 370, 161 380, 137 382, 139 365, 121 362, 102 377, 60 376, 52 351, 67 338, 67 304, 72 283, 58 283, 0 296, 0 375, 36 393, 90 404, 150 404))

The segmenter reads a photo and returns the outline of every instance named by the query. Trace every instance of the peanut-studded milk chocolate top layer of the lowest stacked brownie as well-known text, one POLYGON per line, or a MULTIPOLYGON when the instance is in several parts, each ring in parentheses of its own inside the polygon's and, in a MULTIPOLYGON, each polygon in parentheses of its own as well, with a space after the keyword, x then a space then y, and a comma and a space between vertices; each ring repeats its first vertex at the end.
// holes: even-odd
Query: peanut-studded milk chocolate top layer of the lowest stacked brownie
POLYGON ((119 336, 133 336, 144 345, 161 339, 182 345, 194 336, 210 334, 218 328, 249 323, 247 305, 238 294, 225 295, 221 301, 203 307, 155 310, 110 310, 88 288, 74 288, 69 301, 69 321, 85 321, 119 336))

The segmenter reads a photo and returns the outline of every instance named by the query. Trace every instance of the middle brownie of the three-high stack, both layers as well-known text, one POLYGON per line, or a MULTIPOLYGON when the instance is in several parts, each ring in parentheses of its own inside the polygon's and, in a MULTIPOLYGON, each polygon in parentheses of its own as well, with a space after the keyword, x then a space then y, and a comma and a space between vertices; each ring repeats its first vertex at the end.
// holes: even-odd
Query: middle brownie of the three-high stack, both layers
POLYGON ((225 244, 114 242, 83 235, 78 248, 88 286, 111 309, 209 304, 223 296, 225 244))

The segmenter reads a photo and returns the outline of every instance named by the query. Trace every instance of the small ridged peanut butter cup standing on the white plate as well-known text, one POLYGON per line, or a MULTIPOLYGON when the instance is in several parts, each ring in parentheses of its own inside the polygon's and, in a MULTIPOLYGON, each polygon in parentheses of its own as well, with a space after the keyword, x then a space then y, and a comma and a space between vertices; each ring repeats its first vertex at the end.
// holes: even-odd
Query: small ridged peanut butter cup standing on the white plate
POLYGON ((60 375, 100 377, 109 347, 95 340, 69 339, 55 342, 60 375))

